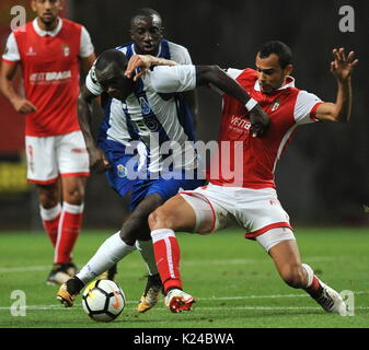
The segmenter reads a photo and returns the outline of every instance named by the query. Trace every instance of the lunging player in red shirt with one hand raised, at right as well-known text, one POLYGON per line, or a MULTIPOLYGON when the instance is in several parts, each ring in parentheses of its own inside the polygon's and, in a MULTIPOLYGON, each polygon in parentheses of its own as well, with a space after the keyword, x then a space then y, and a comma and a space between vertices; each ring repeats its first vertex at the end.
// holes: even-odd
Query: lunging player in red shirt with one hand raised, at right
MULTIPOLYGON (((274 183, 276 162, 298 125, 313 121, 348 121, 351 108, 350 74, 358 63, 354 52, 333 50, 331 71, 337 81, 335 103, 295 88, 291 51, 280 42, 265 44, 256 55, 256 70, 229 70, 249 95, 270 116, 264 138, 250 137, 249 115, 242 104, 224 95, 219 141, 243 144, 241 163, 232 179, 222 172, 222 154, 215 164, 220 176, 210 184, 168 200, 149 217, 155 260, 172 312, 191 310, 194 298, 182 291, 180 247, 174 231, 210 233, 229 224, 247 230, 273 258, 284 281, 307 291, 326 312, 346 313, 341 295, 323 283, 307 264, 301 264, 289 217, 280 206, 274 183)), ((239 144, 240 145, 240 144, 239 144)), ((231 153, 232 154, 232 153, 231 153)), ((240 154, 240 153, 239 153, 240 154)), ((223 159, 229 156, 224 154, 223 159)))

